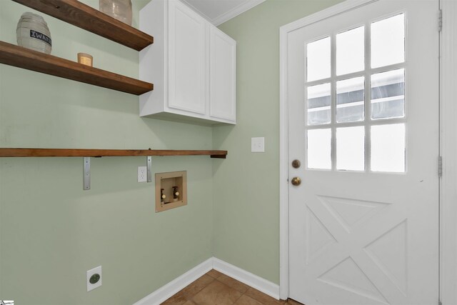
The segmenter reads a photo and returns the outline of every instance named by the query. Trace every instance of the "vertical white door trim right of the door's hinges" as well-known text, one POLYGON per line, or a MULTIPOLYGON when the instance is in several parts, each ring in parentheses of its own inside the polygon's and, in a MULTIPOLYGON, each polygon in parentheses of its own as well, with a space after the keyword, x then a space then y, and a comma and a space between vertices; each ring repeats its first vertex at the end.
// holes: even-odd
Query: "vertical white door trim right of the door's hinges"
POLYGON ((440 299, 451 305, 457 304, 457 1, 441 0, 440 6, 440 299))

